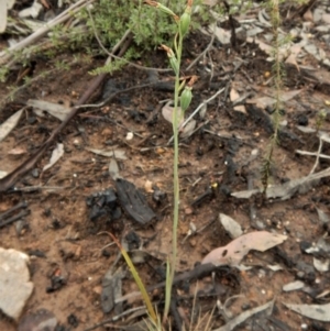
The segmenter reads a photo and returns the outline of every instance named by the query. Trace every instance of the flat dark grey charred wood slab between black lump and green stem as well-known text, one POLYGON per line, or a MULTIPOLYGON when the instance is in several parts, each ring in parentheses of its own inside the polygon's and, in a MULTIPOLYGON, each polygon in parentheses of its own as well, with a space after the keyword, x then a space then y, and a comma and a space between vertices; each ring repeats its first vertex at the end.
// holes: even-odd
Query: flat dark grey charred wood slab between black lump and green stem
POLYGON ((116 188, 121 207, 133 220, 146 224, 156 218, 156 214, 147 206, 143 194, 132 183, 125 179, 117 179, 116 188))

